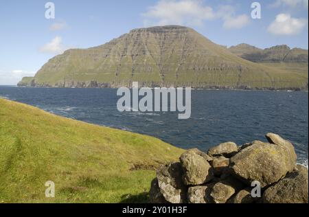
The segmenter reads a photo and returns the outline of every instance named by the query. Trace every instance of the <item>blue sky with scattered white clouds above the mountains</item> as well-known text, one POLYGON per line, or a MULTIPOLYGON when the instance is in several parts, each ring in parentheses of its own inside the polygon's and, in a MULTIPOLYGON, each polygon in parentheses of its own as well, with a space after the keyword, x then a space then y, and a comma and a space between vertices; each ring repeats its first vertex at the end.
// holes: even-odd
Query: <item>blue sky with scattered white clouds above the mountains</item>
POLYGON ((0 85, 34 76, 66 49, 102 45, 155 25, 192 27, 228 47, 308 49, 308 0, 0 0, 0 85), (260 19, 251 16, 254 2, 260 19))

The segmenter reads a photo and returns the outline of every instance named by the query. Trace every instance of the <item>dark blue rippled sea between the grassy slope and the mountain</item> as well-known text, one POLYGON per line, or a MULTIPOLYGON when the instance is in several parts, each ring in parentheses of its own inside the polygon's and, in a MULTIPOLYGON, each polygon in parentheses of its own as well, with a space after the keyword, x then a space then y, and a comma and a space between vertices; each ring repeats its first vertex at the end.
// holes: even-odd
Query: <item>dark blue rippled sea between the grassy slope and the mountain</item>
POLYGON ((158 137, 181 148, 207 150, 225 141, 266 141, 277 133, 295 145, 308 165, 308 92, 192 91, 192 116, 117 111, 117 89, 0 87, 0 97, 83 122, 158 137))

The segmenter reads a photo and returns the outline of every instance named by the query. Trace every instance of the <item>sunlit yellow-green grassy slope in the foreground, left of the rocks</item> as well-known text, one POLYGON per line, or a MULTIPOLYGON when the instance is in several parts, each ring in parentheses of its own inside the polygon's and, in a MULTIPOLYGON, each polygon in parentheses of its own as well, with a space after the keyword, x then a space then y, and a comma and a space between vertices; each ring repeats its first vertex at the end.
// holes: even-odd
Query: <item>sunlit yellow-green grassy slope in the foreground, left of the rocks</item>
POLYGON ((153 168, 181 152, 153 137, 0 99, 0 203, 146 201, 153 168), (49 180, 56 198, 45 198, 49 180))

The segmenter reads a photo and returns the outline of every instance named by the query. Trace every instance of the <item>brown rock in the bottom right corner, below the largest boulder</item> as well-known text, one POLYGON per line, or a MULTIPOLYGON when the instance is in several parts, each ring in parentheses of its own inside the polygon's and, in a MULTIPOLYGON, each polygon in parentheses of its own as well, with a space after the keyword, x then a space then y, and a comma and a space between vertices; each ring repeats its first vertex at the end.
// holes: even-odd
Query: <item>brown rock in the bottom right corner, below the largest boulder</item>
POLYGON ((297 165, 297 169, 268 187, 262 197, 263 203, 308 203, 308 169, 297 165))

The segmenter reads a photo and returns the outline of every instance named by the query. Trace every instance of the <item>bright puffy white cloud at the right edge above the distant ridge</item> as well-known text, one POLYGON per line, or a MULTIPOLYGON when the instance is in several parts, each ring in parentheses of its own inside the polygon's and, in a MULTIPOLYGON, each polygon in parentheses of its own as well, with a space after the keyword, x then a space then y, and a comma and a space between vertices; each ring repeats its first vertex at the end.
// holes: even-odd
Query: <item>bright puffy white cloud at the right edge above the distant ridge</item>
POLYGON ((308 23, 307 19, 296 19, 290 14, 278 14, 268 27, 268 32, 276 35, 299 34, 308 23))

